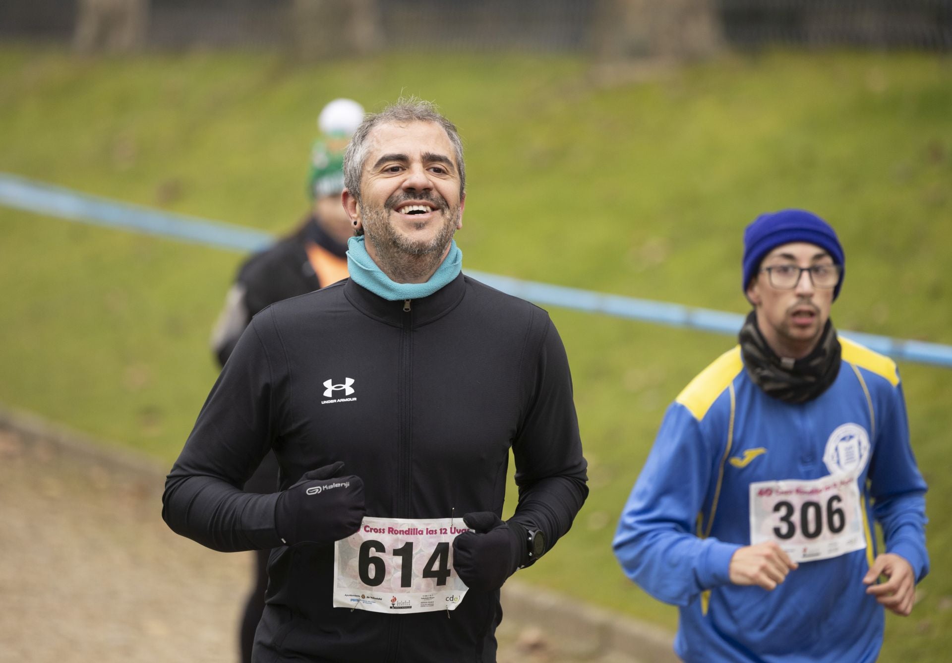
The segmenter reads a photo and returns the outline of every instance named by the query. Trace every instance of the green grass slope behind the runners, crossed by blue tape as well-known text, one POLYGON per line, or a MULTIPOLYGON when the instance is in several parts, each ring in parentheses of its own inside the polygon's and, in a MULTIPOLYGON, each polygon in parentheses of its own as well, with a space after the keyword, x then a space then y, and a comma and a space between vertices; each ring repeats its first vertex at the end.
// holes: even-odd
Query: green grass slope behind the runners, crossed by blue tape
MULTIPOLYGON (((624 74, 624 72, 623 72, 624 74)), ((389 54, 76 60, 0 49, 0 170, 279 232, 305 210, 314 117, 437 100, 466 141, 471 269, 744 311, 741 231, 799 206, 840 231, 841 329, 952 343, 952 64, 768 53, 606 83, 563 57, 389 54)), ((215 377, 208 330, 236 254, 0 209, 0 402, 170 461, 215 377)), ((665 407, 731 339, 552 311, 572 363, 592 493, 521 573, 673 627, 609 542, 665 407)), ((952 648, 950 374, 903 365, 931 488, 933 573, 883 660, 952 648)))

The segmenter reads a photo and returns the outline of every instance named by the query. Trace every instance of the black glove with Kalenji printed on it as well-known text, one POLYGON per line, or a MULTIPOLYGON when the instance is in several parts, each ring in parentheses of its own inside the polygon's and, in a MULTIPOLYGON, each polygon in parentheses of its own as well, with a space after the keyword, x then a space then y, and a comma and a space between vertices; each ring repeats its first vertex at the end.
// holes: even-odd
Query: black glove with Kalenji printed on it
POLYGON ((357 532, 364 519, 364 481, 337 476, 344 463, 305 472, 282 491, 274 507, 274 528, 288 546, 331 543, 357 532))

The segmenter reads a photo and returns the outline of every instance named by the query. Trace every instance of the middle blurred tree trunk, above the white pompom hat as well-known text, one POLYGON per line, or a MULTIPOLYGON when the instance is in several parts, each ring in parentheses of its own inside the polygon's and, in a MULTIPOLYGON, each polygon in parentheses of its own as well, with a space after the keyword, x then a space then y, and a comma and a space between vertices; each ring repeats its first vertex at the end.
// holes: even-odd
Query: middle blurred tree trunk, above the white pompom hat
POLYGON ((384 45, 377 0, 294 0, 294 43, 306 58, 346 57, 384 45))

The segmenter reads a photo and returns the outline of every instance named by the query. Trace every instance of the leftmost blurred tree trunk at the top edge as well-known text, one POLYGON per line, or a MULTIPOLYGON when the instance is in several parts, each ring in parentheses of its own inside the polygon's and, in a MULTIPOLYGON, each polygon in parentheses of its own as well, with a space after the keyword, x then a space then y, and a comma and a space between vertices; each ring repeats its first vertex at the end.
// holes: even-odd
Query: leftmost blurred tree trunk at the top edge
POLYGON ((129 52, 146 42, 149 0, 79 0, 73 47, 129 52))

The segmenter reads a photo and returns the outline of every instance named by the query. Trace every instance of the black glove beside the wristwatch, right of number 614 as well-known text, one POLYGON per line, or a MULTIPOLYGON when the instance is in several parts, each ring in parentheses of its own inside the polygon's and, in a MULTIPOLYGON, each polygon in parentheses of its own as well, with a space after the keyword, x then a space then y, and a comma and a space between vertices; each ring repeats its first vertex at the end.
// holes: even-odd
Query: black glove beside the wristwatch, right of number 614
POLYGON ((469 589, 495 592, 525 561, 526 528, 493 512, 466 513, 463 522, 474 532, 453 539, 453 568, 469 589))

